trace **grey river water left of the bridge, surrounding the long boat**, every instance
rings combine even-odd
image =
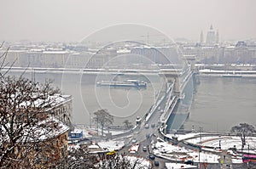
[[[19,75],[20,73],[9,73]],[[32,72],[27,71],[24,76],[32,78]],[[54,85],[61,89],[63,94],[73,96],[73,123],[94,124],[93,114],[96,110],[106,109],[114,116],[114,125],[123,126],[126,119],[135,124],[137,116],[145,115],[154,104],[155,96],[161,87],[160,76],[134,76],[113,74],[83,74],[77,71],[52,72],[41,71],[35,73],[37,82],[44,82],[45,78],[54,80]],[[137,79],[147,82],[147,87],[97,87],[96,82],[125,81]]]

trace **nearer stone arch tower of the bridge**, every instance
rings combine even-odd
[[[181,76],[180,70],[160,70],[160,76],[165,76],[168,83],[174,82],[174,93],[180,96],[180,82],[179,78]]]

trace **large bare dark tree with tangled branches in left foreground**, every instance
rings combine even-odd
[[[0,58],[0,168],[53,168],[57,149],[51,133],[61,127],[50,120],[48,110],[60,91],[49,81],[7,76],[6,56]]]

